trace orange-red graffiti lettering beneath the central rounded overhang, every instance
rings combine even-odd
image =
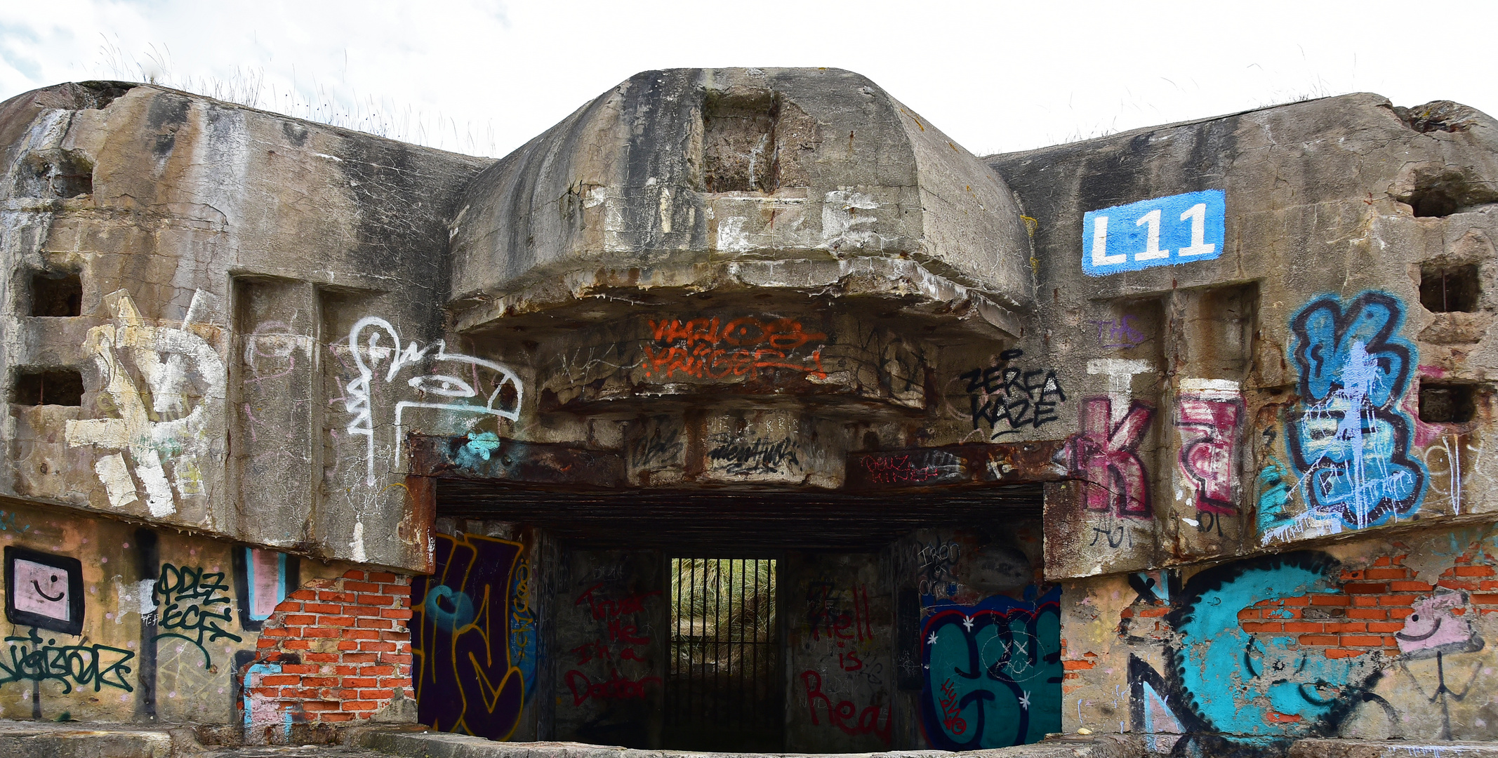
[[[795,319],[758,319],[753,316],[650,321],[652,342],[646,345],[646,376],[694,379],[746,376],[765,369],[786,369],[825,379],[822,340],[825,334],[806,331]],[[810,354],[801,354],[812,346]]]

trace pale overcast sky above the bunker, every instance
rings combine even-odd
[[[676,66],[851,69],[978,154],[1348,91],[1498,112],[1498,66],[1482,42],[1498,27],[1498,3],[0,6],[0,99],[60,81],[154,76],[491,156],[638,70]]]

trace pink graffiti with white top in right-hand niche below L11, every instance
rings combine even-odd
[[[1192,482],[1197,511],[1236,515],[1237,428],[1243,400],[1237,382],[1186,379],[1176,398],[1176,428],[1182,430],[1180,470]]]

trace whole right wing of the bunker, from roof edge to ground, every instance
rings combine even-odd
[[[1498,150],[1488,117],[1425,111],[1357,94],[992,159],[1038,219],[1022,348],[1079,419],[1046,571],[1100,575],[1064,593],[1068,730],[1489,739]],[[1152,256],[1191,210],[1128,204],[1212,190],[1185,202],[1221,249]]]

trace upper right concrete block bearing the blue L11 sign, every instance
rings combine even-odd
[[[1053,577],[1494,509],[1491,288],[1470,312],[1420,297],[1422,270],[1492,261],[1492,126],[1422,132],[1354,94],[992,159],[1040,222],[1047,297],[1020,345],[1059,369],[1091,482],[1047,502]],[[1215,258],[1080,276],[1085,211],[1198,190],[1224,193]],[[1149,220],[1113,217],[1098,253],[1135,261]],[[1431,422],[1422,392],[1452,383],[1471,419]]]

